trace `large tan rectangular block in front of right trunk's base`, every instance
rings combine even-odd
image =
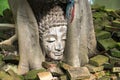
[[[87,67],[75,67],[67,70],[67,75],[70,80],[89,79],[90,72]]]

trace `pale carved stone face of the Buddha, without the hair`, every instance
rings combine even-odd
[[[65,48],[67,26],[51,27],[43,34],[42,47],[45,55],[52,60],[61,60]]]

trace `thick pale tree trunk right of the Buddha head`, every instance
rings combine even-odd
[[[65,62],[78,67],[96,53],[96,39],[88,0],[75,0],[74,7],[74,19],[68,23]]]

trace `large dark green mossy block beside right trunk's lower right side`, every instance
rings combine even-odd
[[[109,50],[115,48],[117,46],[117,43],[112,38],[109,38],[98,40],[98,46],[104,50]]]

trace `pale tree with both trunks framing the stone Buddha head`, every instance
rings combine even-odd
[[[36,5],[40,4],[40,0],[31,1],[36,1]],[[14,15],[19,43],[19,73],[42,68],[44,56],[39,45],[37,21],[30,5],[27,0],[9,0],[9,4]],[[74,19],[72,23],[68,23],[64,57],[66,63],[78,67],[88,63],[88,55],[95,54],[96,40],[88,0],[75,0],[74,7]]]

